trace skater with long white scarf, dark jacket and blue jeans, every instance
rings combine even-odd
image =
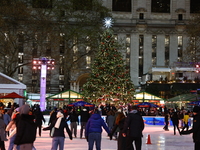
[[[68,124],[65,121],[64,115],[62,112],[57,112],[56,120],[54,120],[50,126],[43,128],[43,130],[51,130],[52,135],[52,147],[51,150],[57,150],[59,146],[59,150],[64,150],[64,141],[65,141],[65,133],[64,129],[66,129],[70,140],[72,140],[72,133],[68,127]],[[53,133],[52,133],[53,132]]]

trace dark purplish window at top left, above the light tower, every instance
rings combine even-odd
[[[32,0],[33,8],[52,8],[52,0]]]

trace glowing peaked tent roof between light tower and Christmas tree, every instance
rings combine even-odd
[[[83,95],[78,92],[67,90],[58,94],[51,95],[46,99],[82,99],[82,97]]]

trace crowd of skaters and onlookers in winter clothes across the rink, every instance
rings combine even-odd
[[[141,150],[143,130],[145,128],[142,116],[157,115],[164,116],[165,126],[163,129],[169,131],[168,125],[171,120],[176,131],[180,135],[193,133],[195,150],[200,149],[200,108],[195,106],[193,111],[184,108],[138,108],[135,105],[116,108],[107,104],[95,108],[89,107],[65,107],[54,108],[50,112],[48,126],[43,128],[46,122],[39,105],[30,107],[28,104],[18,106],[9,104],[0,113],[0,149],[5,150],[5,141],[9,142],[8,150],[36,150],[34,141],[36,135],[42,136],[42,130],[49,130],[52,138],[51,150],[64,150],[65,130],[70,140],[73,138],[86,139],[88,150],[101,150],[102,132],[107,132],[110,140],[117,140],[117,150]],[[106,116],[104,120],[102,116]],[[193,127],[190,129],[189,117],[194,117]],[[68,124],[70,124],[68,126]],[[77,126],[80,125],[80,135],[77,135]],[[38,133],[37,133],[38,131]],[[135,147],[135,148],[134,148]]]

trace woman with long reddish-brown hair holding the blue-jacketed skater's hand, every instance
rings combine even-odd
[[[127,142],[126,142],[127,138],[123,137],[123,135],[122,135],[125,118],[126,118],[126,116],[124,115],[123,112],[119,112],[117,114],[114,127],[110,134],[110,140],[112,140],[113,134],[115,133],[117,128],[119,128],[120,131],[119,131],[119,136],[117,138],[117,150],[126,150],[126,147],[127,147]],[[132,148],[132,150],[133,150],[133,148]]]

